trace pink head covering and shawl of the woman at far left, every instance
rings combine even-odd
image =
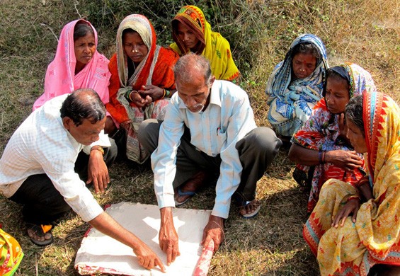
[[[91,61],[78,74],[75,74],[76,57],[74,50],[74,28],[76,23],[86,23],[94,33],[96,51]],[[33,110],[40,108],[47,100],[79,88],[92,88],[103,103],[108,103],[108,84],[110,72],[108,59],[97,52],[96,29],[84,19],[72,21],[62,28],[59,35],[55,59],[49,64],[45,76],[45,93],[33,104]]]

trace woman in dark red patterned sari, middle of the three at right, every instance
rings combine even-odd
[[[343,113],[348,100],[365,91],[375,91],[375,84],[370,73],[358,65],[328,69],[324,98],[316,103],[312,116],[292,137],[289,158],[297,163],[293,178],[299,185],[311,188],[307,212],[314,209],[326,180],[357,183],[363,176],[364,161],[345,137]]]

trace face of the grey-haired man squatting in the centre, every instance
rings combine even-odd
[[[212,77],[210,86],[205,84],[204,76],[195,75],[192,81],[181,81],[176,79],[176,88],[178,89],[178,96],[183,100],[186,107],[192,113],[199,113],[205,109],[207,98],[210,95],[210,90],[215,77]]]

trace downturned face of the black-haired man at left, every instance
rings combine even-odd
[[[76,142],[88,146],[99,139],[98,134],[104,129],[106,117],[103,120],[92,124],[90,120],[84,119],[82,124],[77,126],[69,117],[62,118],[66,130],[74,137]]]

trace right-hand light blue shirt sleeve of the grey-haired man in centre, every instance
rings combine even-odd
[[[229,117],[227,130],[221,130],[218,135],[226,135],[226,142],[221,149],[221,166],[216,186],[215,205],[212,215],[227,219],[231,205],[231,197],[238,188],[241,180],[242,166],[236,143],[242,139],[253,126],[253,110],[247,97],[236,100],[232,110],[234,113]]]

